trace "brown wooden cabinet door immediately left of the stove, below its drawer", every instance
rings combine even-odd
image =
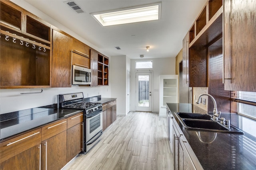
[[[83,124],[79,123],[67,130],[67,162],[82,151]]]

